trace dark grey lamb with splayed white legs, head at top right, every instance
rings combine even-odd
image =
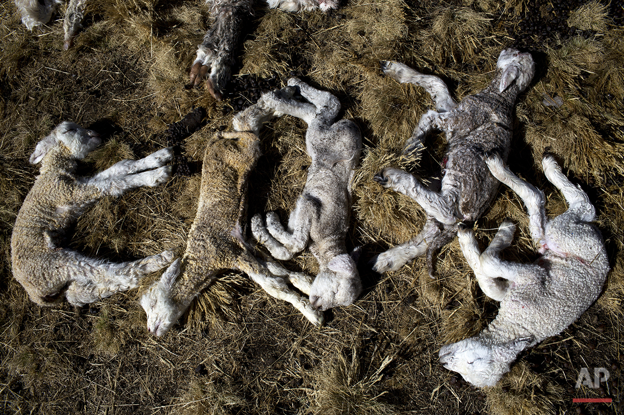
[[[507,160],[514,103],[533,78],[535,65],[528,53],[502,50],[490,85],[464,98],[459,105],[439,77],[423,75],[388,60],[381,62],[381,68],[384,74],[401,83],[421,85],[436,105],[436,110],[422,115],[403,153],[419,155],[424,149],[422,141],[435,129],[446,133],[448,147],[442,162],[444,176],[439,193],[425,188],[412,174],[400,169],[384,168],[374,176],[384,188],[405,194],[420,204],[427,221],[416,237],[375,257],[373,268],[377,272],[394,271],[426,254],[427,270],[433,278],[432,256],[455,237],[456,222],[476,221],[495,196],[499,182],[487,170],[485,155],[497,151]]]

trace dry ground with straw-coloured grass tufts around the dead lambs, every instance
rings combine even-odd
[[[621,1],[347,0],[337,11],[288,14],[263,3],[246,28],[229,92],[215,102],[190,88],[188,70],[210,25],[200,0],[93,0],[74,48],[62,50],[62,17],[32,32],[0,2],[0,413],[4,414],[616,414],[623,413],[624,30]],[[61,6],[61,14],[64,6]],[[439,176],[444,137],[426,154],[399,153],[431,107],[422,88],[381,75],[380,59],[442,77],[461,99],[483,88],[504,47],[529,50],[534,81],[517,103],[510,168],[566,208],[542,174],[545,148],[598,212],[610,266],[605,290],[558,336],[525,351],[492,388],[477,389],[437,361],[439,348],[473,335],[497,313],[475,283],[457,240],[436,257],[375,274],[373,255],[421,229],[422,210],[372,179],[384,166]],[[38,166],[37,140],[62,120],[100,131],[105,143],[82,174],[168,145],[163,133],[193,107],[205,125],[178,151],[177,176],[157,188],[107,198],[76,225],[71,246],[127,260],[182,250],[195,215],[198,161],[233,113],[291,75],[334,93],[363,131],[348,246],[363,246],[361,298],[314,328],[245,275],[222,275],[170,333],[145,328],[139,289],[74,308],[41,308],[12,278],[10,238]],[[556,103],[557,105],[549,105]],[[261,133],[250,215],[288,217],[306,179],[305,123],[283,117]],[[507,259],[535,249],[524,206],[501,188],[475,226],[485,246],[505,217],[519,224]],[[284,263],[314,274],[307,251]],[[582,368],[607,368],[600,389],[575,389]],[[612,398],[574,404],[573,398]]]

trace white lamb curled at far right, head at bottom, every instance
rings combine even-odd
[[[475,386],[493,386],[525,348],[557,335],[577,320],[598,298],[609,270],[605,244],[591,222],[595,210],[587,194],[562,174],[550,155],[542,160],[544,174],[568,202],[568,210],[547,220],[544,193],[515,176],[498,156],[487,166],[517,193],[529,213],[531,236],[542,256],[533,264],[499,259],[509,246],[515,226],[504,221],[481,254],[470,229],[460,227],[459,243],[479,286],[500,301],[499,314],[479,335],[446,345],[439,357]]]

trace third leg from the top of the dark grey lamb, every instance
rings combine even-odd
[[[436,218],[438,222],[452,225],[457,221],[454,194],[451,192],[441,194],[426,189],[412,174],[401,169],[385,168],[375,174],[373,180],[384,188],[391,188],[414,199],[428,216]]]

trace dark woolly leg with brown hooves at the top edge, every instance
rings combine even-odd
[[[199,85],[208,75],[206,88],[218,101],[223,97],[225,85],[230,80],[236,59],[235,51],[238,49],[238,36],[243,23],[253,14],[252,5],[252,0],[214,0],[210,6],[210,15],[214,21],[202,44],[198,46],[189,80]]]

